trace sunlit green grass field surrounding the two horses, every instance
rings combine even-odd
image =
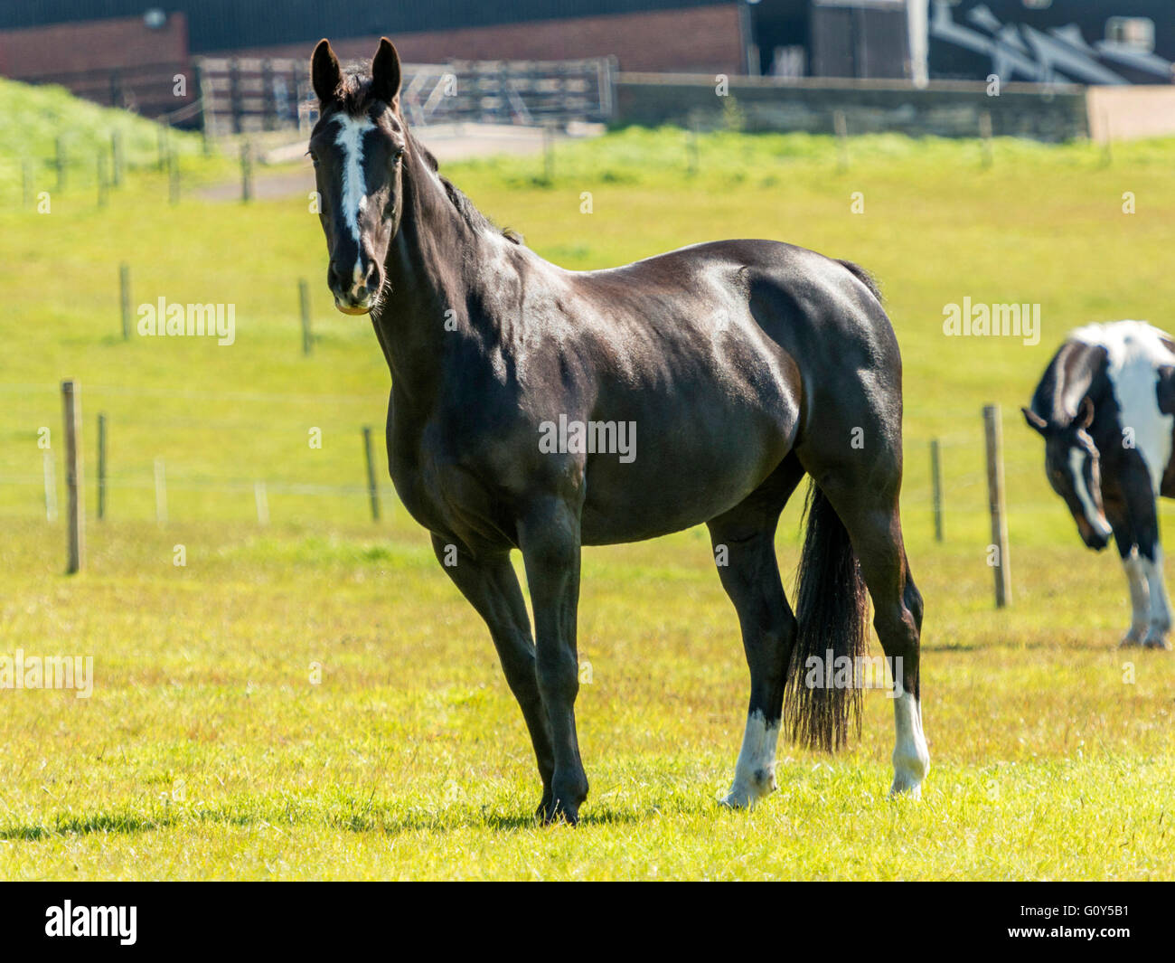
[[[52,143],[41,136],[36,156]],[[306,196],[201,201],[192,188],[230,167],[196,141],[177,206],[145,159],[106,208],[79,181],[38,214],[0,136],[0,656],[90,655],[95,676],[89,698],[0,691],[0,878],[1175,876],[1175,660],[1114,648],[1128,621],[1120,567],[1080,546],[1018,412],[1070,327],[1175,325],[1175,142],[1116,145],[1107,162],[1088,145],[996,141],[985,168],[974,142],[871,136],[839,169],[830,139],[714,133],[692,175],[684,145],[677,131],[622,131],[562,146],[550,182],[542,159],[446,173],[568,267],[764,236],[879,277],[905,356],[904,515],[926,598],[922,801],[886,797],[891,707],[871,693],[857,748],[781,747],[773,797],[717,807],[747,683],[698,529],[585,551],[592,790],[578,828],[538,828],[529,742],[484,627],[385,480],[384,519],[367,514],[360,429],[376,426],[382,463],[388,374],[368,322],[330,308]],[[235,305],[235,343],[125,342],[122,261],[135,305]],[[1040,303],[1040,343],[944,336],[944,306],[965,296]],[[63,508],[63,377],[80,381],[85,415],[89,557],[74,577],[63,526],[45,517],[39,447],[47,427]],[[1010,510],[1014,604],[1000,613],[985,561],[988,402],[1003,408]],[[787,573],[797,521],[792,506]]]

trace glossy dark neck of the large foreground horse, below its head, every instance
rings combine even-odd
[[[484,283],[479,266],[494,252],[415,153],[404,172],[403,205],[384,262],[388,293],[376,333],[394,388],[428,409],[439,387],[446,339],[468,326],[466,306],[481,300]]]

